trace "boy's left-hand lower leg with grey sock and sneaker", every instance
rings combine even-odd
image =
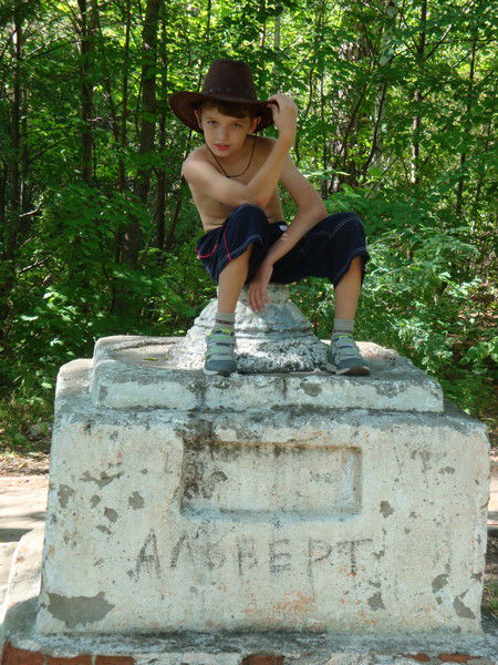
[[[228,376],[237,370],[234,357],[235,310],[247,278],[252,247],[250,244],[243,254],[230,260],[219,274],[215,325],[206,338],[206,374]]]

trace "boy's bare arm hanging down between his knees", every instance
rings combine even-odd
[[[270,301],[267,286],[273,272],[273,265],[292,249],[310,228],[328,215],[320,194],[300,173],[290,157],[286,161],[280,181],[298,206],[298,213],[280,238],[270,247],[249,285],[248,301],[255,311],[263,309],[264,305]]]

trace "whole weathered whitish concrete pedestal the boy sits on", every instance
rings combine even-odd
[[[370,377],[323,371],[287,287],[270,298],[239,303],[230,377],[200,370],[215,303],[185,339],[105,337],[61,368],[41,585],[8,603],[12,648],[238,665],[270,631],[286,663],[332,663],[330,640],[488,653],[484,424],[374,344]]]

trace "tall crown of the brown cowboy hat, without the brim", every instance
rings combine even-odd
[[[203,93],[258,101],[251,70],[247,62],[238,60],[214,60],[206,74]]]

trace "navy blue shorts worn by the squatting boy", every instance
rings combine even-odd
[[[246,279],[248,284],[268,249],[286,228],[284,222],[269,224],[264,211],[257,205],[240,205],[220,227],[212,228],[198,238],[197,258],[218,284],[219,274],[228,262],[243,254],[253,243]],[[303,277],[328,277],[335,286],[356,256],[363,259],[363,283],[370,255],[362,221],[355,213],[334,213],[313,226],[292,249],[276,262],[270,282],[290,284]]]

